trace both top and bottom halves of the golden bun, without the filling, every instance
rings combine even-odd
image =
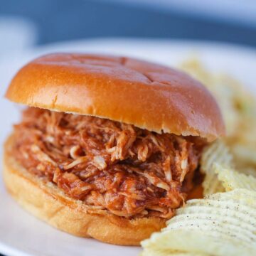
[[[6,97],[29,107],[104,117],[208,142],[225,132],[218,105],[200,82],[178,70],[132,58],[45,55],[18,71]],[[116,245],[139,245],[165,226],[164,218],[122,218],[65,196],[54,183],[16,161],[14,143],[11,136],[4,146],[6,188],[23,208],[55,228]],[[200,192],[198,188],[191,195]]]

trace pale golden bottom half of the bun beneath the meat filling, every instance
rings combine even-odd
[[[11,196],[28,212],[59,230],[114,245],[139,245],[164,228],[162,218],[127,220],[65,196],[53,183],[29,173],[11,154],[12,137],[4,146],[4,183]]]

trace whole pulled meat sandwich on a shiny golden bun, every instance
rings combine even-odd
[[[118,245],[164,227],[198,184],[203,147],[224,133],[203,85],[132,58],[45,55],[6,97],[28,106],[5,144],[11,195],[60,230]]]

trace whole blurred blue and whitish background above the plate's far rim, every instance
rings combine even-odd
[[[0,0],[0,57],[60,41],[132,37],[256,46],[255,0]]]

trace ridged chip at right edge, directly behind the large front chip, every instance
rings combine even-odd
[[[256,191],[256,178],[251,175],[242,174],[234,169],[225,168],[220,164],[214,164],[215,174],[222,183],[225,191],[231,191],[235,188],[247,188]]]

